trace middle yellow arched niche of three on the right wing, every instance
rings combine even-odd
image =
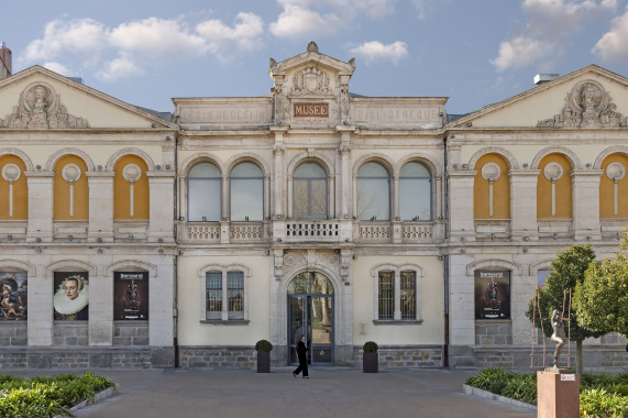
[[[555,215],[552,216],[552,183],[543,174],[549,163],[555,162],[563,168],[562,177],[555,182]],[[571,164],[562,154],[546,155],[539,164],[537,182],[537,218],[565,219],[572,217],[572,177]]]

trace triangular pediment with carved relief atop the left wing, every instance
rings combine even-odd
[[[41,66],[0,80],[0,130],[148,128],[176,125]]]

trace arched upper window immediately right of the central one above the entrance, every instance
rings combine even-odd
[[[390,219],[390,177],[379,163],[366,163],[357,170],[357,219]]]

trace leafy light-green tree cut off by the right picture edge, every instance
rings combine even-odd
[[[615,258],[592,263],[575,289],[577,323],[598,332],[628,338],[628,232]]]

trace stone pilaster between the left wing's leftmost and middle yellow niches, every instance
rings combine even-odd
[[[27,242],[53,241],[54,172],[26,172],[29,183]]]

